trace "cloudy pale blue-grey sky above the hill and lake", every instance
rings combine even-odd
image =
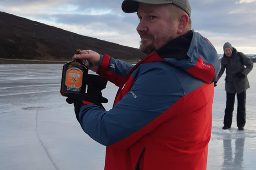
[[[139,48],[135,13],[122,0],[1,0],[0,11],[80,35]],[[256,0],[190,0],[192,29],[223,54],[227,41],[244,54],[256,54]]]

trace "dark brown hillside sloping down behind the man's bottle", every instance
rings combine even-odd
[[[75,49],[92,49],[127,62],[138,62],[139,49],[78,35],[60,28],[0,12],[0,64],[71,60]],[[54,62],[48,62],[54,63]]]

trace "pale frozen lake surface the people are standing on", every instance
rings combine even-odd
[[[0,65],[0,73],[1,170],[103,170],[105,146],[83,132],[73,105],[60,95],[62,65]],[[256,169],[256,69],[248,76],[244,131],[236,127],[236,105],[232,128],[222,130],[224,77],[214,92],[207,169]],[[108,83],[102,91],[106,110],[117,89]]]

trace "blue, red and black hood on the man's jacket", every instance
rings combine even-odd
[[[208,84],[215,81],[221,68],[213,45],[193,30],[170,41],[156,53],[170,64]]]

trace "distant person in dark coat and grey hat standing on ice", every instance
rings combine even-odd
[[[250,87],[247,74],[252,70],[253,63],[249,57],[241,52],[237,52],[236,48],[232,47],[229,43],[224,44],[223,50],[221,70],[214,82],[215,86],[217,86],[217,81],[226,69],[225,90],[227,92],[227,101],[222,129],[231,128],[235,95],[237,95],[236,122],[238,130],[244,130],[246,89]]]

